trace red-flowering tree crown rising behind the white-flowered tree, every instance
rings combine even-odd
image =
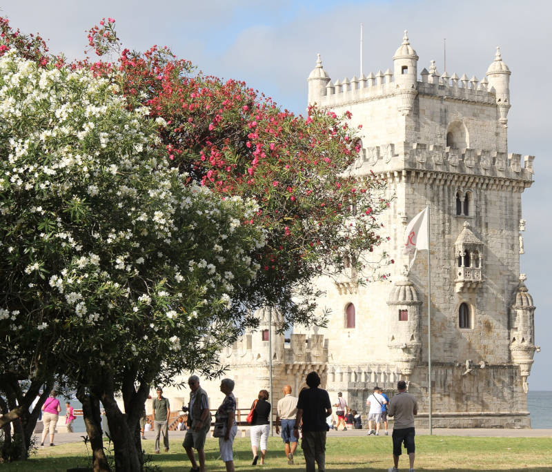
[[[128,106],[147,106],[162,117],[166,157],[201,185],[220,195],[257,201],[251,219],[266,230],[267,244],[255,255],[262,267],[248,296],[279,310],[284,326],[322,324],[313,317],[317,275],[342,273],[352,266],[371,277],[382,262],[373,248],[382,242],[377,216],[388,207],[385,184],[353,177],[359,152],[350,113],[309,108],[297,117],[242,81],[226,82],[195,74],[188,61],[168,48],[122,49],[115,20],[101,21],[88,35],[97,55],[119,52],[119,63],[83,61],[113,77]],[[112,74],[117,70],[117,74]]]

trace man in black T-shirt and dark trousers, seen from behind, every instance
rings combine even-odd
[[[326,432],[328,424],[326,417],[332,414],[330,395],[324,389],[319,389],[320,377],[316,372],[306,376],[308,389],[299,393],[297,401],[297,416],[293,435],[299,437],[299,425],[303,421],[303,438],[301,447],[305,455],[306,472],[315,472],[315,462],[319,472],[326,470]]]

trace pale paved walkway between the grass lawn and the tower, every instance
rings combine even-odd
[[[389,430],[389,435],[393,430]],[[169,437],[171,439],[181,438],[184,440],[186,431],[169,431]],[[347,431],[328,431],[328,437],[340,437],[340,436],[366,436],[368,434],[367,429],[348,429]],[[382,433],[384,434],[384,433]],[[428,429],[416,429],[416,435],[428,435]],[[249,426],[245,426],[238,429],[238,437],[244,437],[249,435]],[[276,433],[275,433],[276,435]],[[445,429],[434,428],[433,435],[435,436],[495,436],[495,437],[552,437],[552,429],[500,429],[500,428],[472,428],[472,429]],[[83,440],[83,436],[86,433],[56,433],[54,437],[55,444],[67,444],[68,442],[79,442]],[[154,439],[154,433],[146,433],[146,440],[150,441]],[[37,439],[40,441],[41,437],[37,434]],[[48,447],[48,441],[50,437],[46,439],[46,447]]]

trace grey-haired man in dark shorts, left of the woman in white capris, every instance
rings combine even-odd
[[[182,446],[186,449],[193,471],[205,472],[205,438],[211,427],[209,399],[207,392],[199,386],[199,377],[192,375],[188,379],[190,386],[190,403],[188,404],[188,431]],[[199,467],[195,462],[194,448],[197,449]]]

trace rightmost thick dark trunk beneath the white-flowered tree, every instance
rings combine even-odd
[[[143,469],[141,464],[141,449],[137,449],[134,433],[126,422],[126,415],[121,413],[115,394],[112,390],[111,382],[103,382],[103,393],[101,394],[101,403],[106,409],[108,417],[109,431],[115,449],[115,469],[117,472],[138,472]]]

